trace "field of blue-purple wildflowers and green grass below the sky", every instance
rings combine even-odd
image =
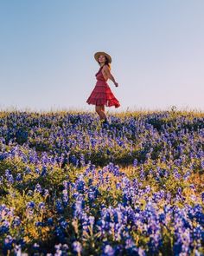
[[[204,113],[0,112],[0,255],[204,255]]]

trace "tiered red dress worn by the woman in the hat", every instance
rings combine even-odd
[[[102,73],[102,68],[103,67],[101,67],[99,69],[99,72],[96,74],[96,85],[86,102],[88,104],[93,104],[96,106],[105,105],[106,107],[115,106],[115,108],[118,108],[120,106],[120,103],[113,95],[112,90],[105,81],[104,75]]]

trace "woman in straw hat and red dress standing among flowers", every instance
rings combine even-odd
[[[86,102],[88,104],[95,105],[95,110],[99,115],[101,123],[108,124],[107,117],[105,115],[105,106],[115,106],[115,108],[118,108],[120,103],[113,95],[112,90],[107,84],[107,80],[111,79],[116,87],[118,87],[118,82],[115,81],[110,72],[112,57],[103,51],[98,51],[95,53],[94,58],[99,63],[100,69],[96,74],[97,82],[95,88],[92,90],[92,93]]]

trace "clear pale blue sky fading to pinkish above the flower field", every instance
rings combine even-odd
[[[112,56],[129,109],[204,109],[203,0],[0,0],[0,108],[83,108]]]

